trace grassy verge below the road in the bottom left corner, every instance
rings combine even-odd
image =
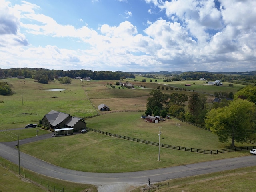
[[[19,176],[18,165],[0,158],[0,191],[18,192],[48,192],[63,190],[68,192],[97,192],[96,186],[73,183],[55,178],[50,178],[35,172],[21,169]],[[49,190],[48,190],[49,189]]]

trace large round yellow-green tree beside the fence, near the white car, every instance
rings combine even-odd
[[[255,132],[255,122],[255,104],[237,99],[228,106],[208,112],[205,125],[218,135],[220,142],[231,139],[231,147],[235,147],[235,141],[243,143]]]

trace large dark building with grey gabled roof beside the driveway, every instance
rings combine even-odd
[[[74,128],[74,131],[79,131],[86,129],[86,122],[84,119],[78,117],[72,117],[70,114],[50,111],[48,114],[44,115],[42,119],[43,126],[49,127],[52,129],[59,128]]]

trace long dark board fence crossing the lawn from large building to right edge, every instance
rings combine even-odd
[[[104,135],[108,135],[108,136],[112,136],[112,137],[116,137],[116,138],[121,138],[121,139],[140,142],[140,143],[144,143],[144,144],[159,146],[158,142],[152,142],[152,141],[148,141],[148,140],[142,140],[142,139],[127,137],[127,136],[122,136],[122,135],[113,134],[113,133],[109,133],[109,132],[105,132],[105,131],[93,129],[93,128],[87,128],[87,129],[88,129],[88,131],[94,131],[94,132],[97,132],[100,134],[104,134]],[[174,145],[168,145],[168,144],[162,144],[162,143],[160,143],[160,147],[170,148],[170,149],[175,149],[175,150],[182,150],[182,151],[189,151],[189,152],[196,152],[196,153],[203,153],[203,154],[210,154],[210,155],[226,153],[226,152],[234,152],[234,151],[251,150],[251,149],[256,148],[256,146],[248,146],[248,147],[235,147],[235,148],[217,149],[217,150],[204,150],[204,149],[174,146]]]

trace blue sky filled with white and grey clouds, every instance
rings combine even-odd
[[[0,0],[0,68],[256,70],[256,0]]]

